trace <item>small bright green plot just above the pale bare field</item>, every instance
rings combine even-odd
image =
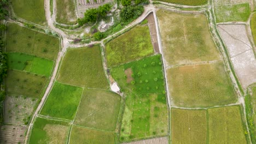
[[[248,3],[221,5],[215,7],[216,22],[231,22],[248,20],[250,7]]]

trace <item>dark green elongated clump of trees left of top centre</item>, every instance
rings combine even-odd
[[[111,9],[110,4],[104,4],[96,9],[88,9],[84,13],[84,17],[82,19],[78,19],[78,24],[83,26],[85,23],[88,22],[96,22],[97,19],[101,19],[107,15],[109,10]]]

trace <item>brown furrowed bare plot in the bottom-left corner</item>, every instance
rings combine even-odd
[[[23,143],[26,127],[17,125],[1,125],[0,126],[0,143],[13,144]]]

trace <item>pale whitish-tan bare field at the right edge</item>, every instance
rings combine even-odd
[[[256,82],[256,59],[245,25],[218,25],[232,65],[243,88]]]

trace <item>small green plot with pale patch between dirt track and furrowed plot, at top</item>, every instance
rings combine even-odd
[[[75,2],[72,0],[56,0],[56,22],[73,25],[77,22]]]

